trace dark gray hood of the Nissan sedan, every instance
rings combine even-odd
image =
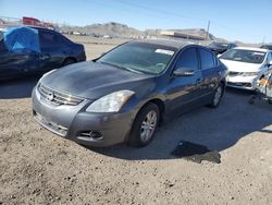
[[[51,89],[88,99],[98,99],[112,92],[134,91],[154,76],[86,61],[49,73],[40,83]]]

